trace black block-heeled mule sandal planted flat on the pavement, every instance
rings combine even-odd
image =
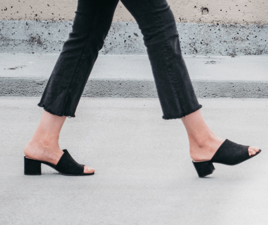
[[[41,175],[41,163],[46,164],[59,173],[68,176],[88,176],[93,173],[84,173],[84,165],[77,163],[69,152],[64,149],[64,153],[58,161],[57,165],[40,160],[34,160],[24,156],[24,174],[25,175]]]

